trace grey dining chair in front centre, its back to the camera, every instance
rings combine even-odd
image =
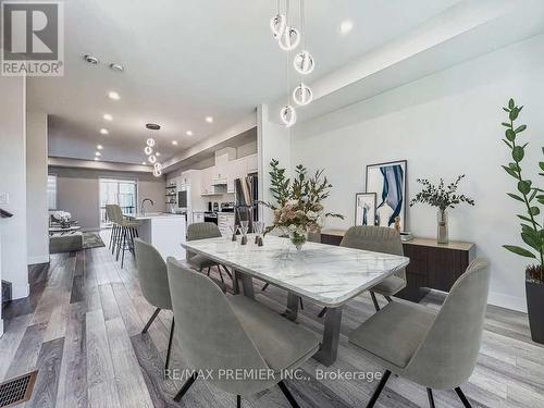
[[[182,327],[174,339],[194,370],[174,400],[183,398],[197,372],[206,372],[211,373],[207,382],[236,395],[238,407],[242,396],[275,384],[298,407],[281,373],[299,368],[313,356],[319,349],[317,334],[246,296],[227,297],[207,276],[174,258],[166,263],[174,316]],[[239,370],[249,370],[243,372],[251,375],[238,378]]]

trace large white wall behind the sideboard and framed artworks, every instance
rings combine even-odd
[[[526,310],[526,260],[502,248],[521,244],[516,213],[522,208],[506,196],[516,186],[500,168],[509,161],[500,122],[509,97],[526,106],[521,120],[529,125],[523,137],[530,149],[523,168],[536,181],[544,145],[543,49],[541,35],[299,124],[292,164],[324,168],[334,185],[326,209],[346,215],[327,226],[353,225],[367,164],[407,159],[410,198],[420,188],[418,177],[465,173],[460,190],[477,206],[450,212],[450,239],[475,243],[491,260],[491,304]],[[409,208],[407,225],[417,236],[434,237],[434,209]]]

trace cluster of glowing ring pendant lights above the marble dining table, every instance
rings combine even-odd
[[[277,41],[280,48],[284,51],[290,52],[301,44],[301,50],[293,59],[293,66],[295,71],[302,75],[308,75],[313,72],[316,63],[310,51],[306,49],[306,33],[305,33],[305,5],[304,0],[300,2],[300,32],[289,25],[289,0],[285,0],[285,14],[281,12],[280,1],[277,0],[276,15],[270,20],[270,29]],[[287,88],[289,87],[289,63],[287,62]],[[290,94],[293,101],[304,107],[310,103],[313,99],[311,88],[306,85],[301,78],[299,85],[290,92],[287,89],[287,95]],[[280,110],[280,119],[286,127],[293,126],[297,121],[297,112],[295,107],[290,104],[290,100]]]

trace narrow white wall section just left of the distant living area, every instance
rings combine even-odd
[[[49,262],[46,113],[26,113],[26,231],[32,264]]]

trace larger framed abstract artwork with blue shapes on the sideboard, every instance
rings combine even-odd
[[[376,225],[405,230],[406,168],[406,160],[367,165],[367,193],[376,194]]]

